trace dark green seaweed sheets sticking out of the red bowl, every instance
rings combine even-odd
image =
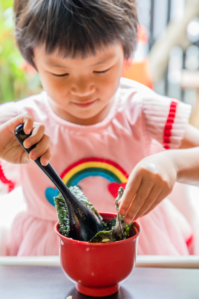
[[[69,187],[70,191],[87,207],[89,207],[100,219],[103,224],[104,230],[96,234],[89,242],[101,243],[101,242],[114,242],[124,240],[128,238],[133,223],[127,224],[124,222],[124,216],[119,215],[118,201],[121,198],[124,189],[119,188],[118,197],[115,200],[115,206],[117,211],[117,217],[113,218],[109,222],[105,223],[102,216],[96,211],[94,206],[88,201],[82,190],[78,186]],[[68,211],[63,197],[59,194],[54,197],[55,207],[58,215],[60,233],[65,237],[69,237],[69,218]]]

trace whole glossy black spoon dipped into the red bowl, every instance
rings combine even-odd
[[[31,135],[31,133],[29,135],[25,134],[23,127],[23,124],[16,127],[14,134],[21,146],[29,154],[36,147],[36,144],[29,149],[23,146],[24,140]],[[37,158],[35,162],[53,182],[65,200],[69,215],[70,238],[88,242],[100,230],[103,230],[103,225],[97,215],[70,192],[50,163],[47,166],[43,166],[41,165],[40,158]]]

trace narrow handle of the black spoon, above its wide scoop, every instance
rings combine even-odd
[[[18,139],[19,143],[23,147],[23,149],[29,154],[32,149],[36,147],[36,144],[32,145],[29,149],[26,149],[23,145],[23,142],[26,138],[28,138],[29,135],[24,133],[23,130],[24,125],[19,125],[15,128],[14,134],[16,138]],[[57,172],[54,170],[54,168],[51,166],[50,163],[48,163],[47,166],[43,166],[40,162],[40,157],[37,158],[34,162],[41,168],[41,170],[47,175],[47,177],[54,183],[55,187],[59,190],[61,194],[65,193],[68,196],[68,200],[70,201],[70,197],[74,197],[74,195],[70,192],[68,187],[64,184],[62,179],[58,176]]]

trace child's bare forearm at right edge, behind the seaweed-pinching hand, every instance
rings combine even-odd
[[[199,147],[171,149],[164,154],[172,161],[177,182],[199,186]]]

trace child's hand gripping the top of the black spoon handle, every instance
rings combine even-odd
[[[15,127],[24,123],[24,132],[32,135],[24,140],[24,147],[30,148],[33,144],[36,147],[28,155],[14,135]],[[16,164],[24,164],[30,160],[36,160],[41,156],[41,164],[46,166],[52,158],[49,146],[50,138],[44,133],[45,126],[41,123],[33,122],[29,113],[24,113],[0,126],[0,158]]]

